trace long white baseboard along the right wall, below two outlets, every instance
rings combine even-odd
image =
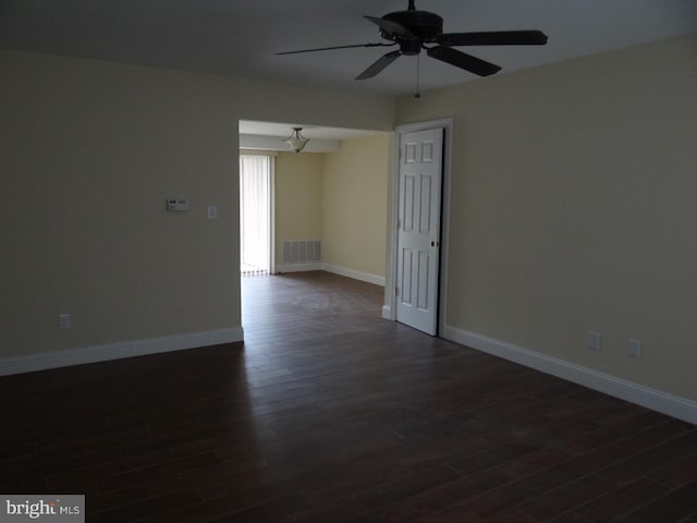
[[[606,394],[697,424],[697,402],[651,389],[504,341],[445,326],[441,336],[456,343],[583,385]]]

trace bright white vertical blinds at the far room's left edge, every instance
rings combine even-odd
[[[240,272],[269,275],[273,268],[273,158],[240,155]]]

